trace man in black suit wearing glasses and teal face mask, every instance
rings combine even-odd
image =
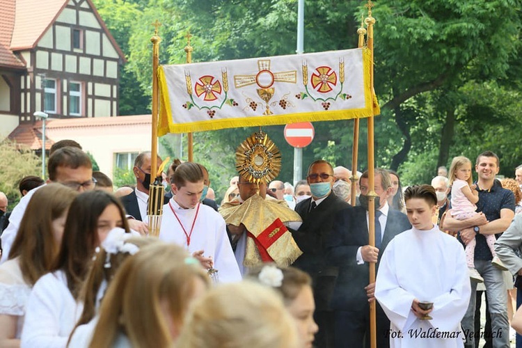
[[[293,266],[306,271],[313,279],[315,297],[314,319],[319,326],[315,347],[333,347],[333,311],[329,307],[337,268],[326,264],[326,239],[335,215],[350,205],[332,192],[333,168],[324,160],[314,161],[308,168],[307,182],[312,197],[296,205],[303,219],[298,230],[292,230],[297,245],[303,251]]]

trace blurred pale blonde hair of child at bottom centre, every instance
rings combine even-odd
[[[249,281],[220,285],[198,299],[178,348],[296,348],[294,319],[274,290]]]

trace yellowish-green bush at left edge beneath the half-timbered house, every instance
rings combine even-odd
[[[0,191],[6,193],[9,209],[12,209],[20,199],[20,180],[28,175],[40,175],[42,161],[28,148],[19,148],[8,140],[0,143],[0,158]]]

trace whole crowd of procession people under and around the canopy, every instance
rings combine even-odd
[[[12,211],[0,193],[0,347],[362,348],[371,303],[379,348],[522,332],[522,167],[497,180],[493,152],[410,187],[319,159],[295,185],[232,176],[219,204],[207,169],[175,160],[157,235],[150,152],[116,190],[76,141],[50,152]]]

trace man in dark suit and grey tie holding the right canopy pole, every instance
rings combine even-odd
[[[388,171],[375,170],[375,246],[368,245],[368,173],[360,180],[361,206],[342,210],[328,241],[329,262],[339,267],[331,307],[335,310],[335,348],[370,347],[370,306],[375,301],[375,283],[370,279],[369,262],[379,261],[391,239],[411,225],[405,214],[390,209],[391,180]],[[386,335],[390,321],[377,303],[377,347],[389,347]],[[365,343],[366,342],[366,343]]]

